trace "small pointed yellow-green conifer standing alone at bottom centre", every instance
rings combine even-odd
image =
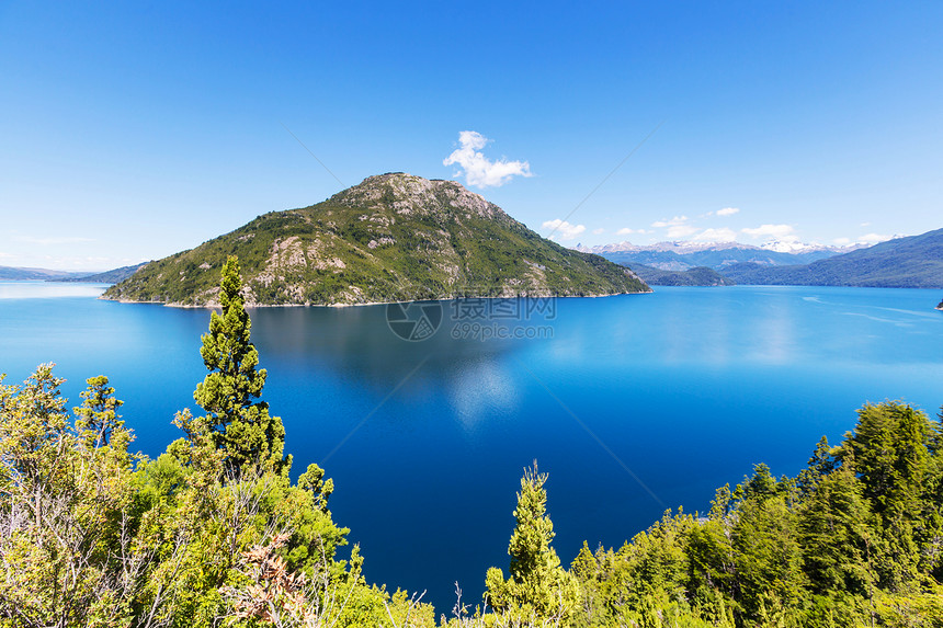
[[[561,567],[550,547],[554,524],[547,516],[546,473],[537,472],[537,461],[524,469],[514,517],[518,525],[511,535],[509,580],[498,568],[488,570],[485,584],[491,606],[524,619],[546,619],[569,613],[576,604],[572,576]]]

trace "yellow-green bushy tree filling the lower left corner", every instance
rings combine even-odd
[[[0,625],[128,626],[149,560],[128,540],[132,434],[106,378],[88,380],[75,423],[63,381],[52,364],[0,379]]]

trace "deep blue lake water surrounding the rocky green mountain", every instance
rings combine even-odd
[[[174,411],[194,408],[208,312],[101,301],[101,290],[0,283],[0,372],[16,382],[56,362],[73,404],[84,378],[107,375],[136,447],[155,456],[180,435]],[[361,544],[368,580],[428,590],[448,613],[455,581],[474,603],[488,567],[507,571],[515,491],[535,458],[568,563],[584,539],[618,546],[667,507],[705,510],[757,463],[796,473],[866,401],[935,413],[940,297],[741,286],[532,312],[444,304],[421,342],[394,334],[385,306],[251,316],[295,473],[318,463],[334,479],[334,521]]]

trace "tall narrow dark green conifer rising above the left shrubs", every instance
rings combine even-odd
[[[230,469],[245,465],[273,465],[287,469],[282,459],[285,427],[269,414],[269,404],[254,401],[262,395],[265,369],[258,368],[259,352],[250,342],[252,321],[241,295],[239,261],[230,255],[223,266],[219,302],[223,313],[209,317],[200,355],[209,373],[196,385],[193,398],[208,413],[207,426]]]

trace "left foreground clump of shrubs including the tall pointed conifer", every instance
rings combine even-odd
[[[356,546],[328,510],[316,465],[288,480],[284,430],[226,266],[224,313],[201,354],[211,373],[179,412],[186,434],[157,459],[130,454],[106,377],[72,419],[42,365],[0,379],[0,626],[431,625],[432,609],[367,585]]]

